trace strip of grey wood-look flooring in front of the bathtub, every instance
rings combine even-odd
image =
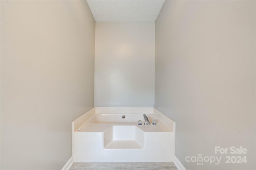
[[[173,162],[74,163],[69,170],[178,170]]]

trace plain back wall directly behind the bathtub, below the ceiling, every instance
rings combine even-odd
[[[154,107],[154,22],[96,22],[95,107]]]

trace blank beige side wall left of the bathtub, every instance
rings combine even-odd
[[[1,169],[61,169],[94,107],[86,1],[1,1]]]

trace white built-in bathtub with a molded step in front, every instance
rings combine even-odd
[[[143,124],[143,114],[150,125]],[[72,122],[72,158],[74,162],[172,162],[174,127],[155,108],[94,107]]]

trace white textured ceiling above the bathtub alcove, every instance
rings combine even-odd
[[[164,0],[87,0],[95,21],[154,22]]]

